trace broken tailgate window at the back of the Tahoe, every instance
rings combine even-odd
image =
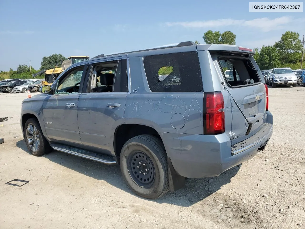
[[[236,87],[260,82],[257,70],[249,59],[221,57],[219,63],[229,86]]]

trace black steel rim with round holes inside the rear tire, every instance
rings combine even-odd
[[[129,173],[132,180],[141,187],[149,187],[155,178],[155,168],[151,159],[143,152],[135,152],[130,156]]]

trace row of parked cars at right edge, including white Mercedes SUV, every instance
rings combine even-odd
[[[279,85],[303,85],[305,87],[305,69],[293,70],[290,67],[279,67],[261,71],[267,85],[277,87]]]

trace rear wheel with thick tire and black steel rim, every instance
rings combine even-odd
[[[167,155],[155,136],[129,139],[121,150],[120,167],[128,187],[139,196],[156,199],[169,190]]]

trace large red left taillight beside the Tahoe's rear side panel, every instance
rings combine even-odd
[[[203,134],[224,133],[224,97],[221,92],[204,92]]]

